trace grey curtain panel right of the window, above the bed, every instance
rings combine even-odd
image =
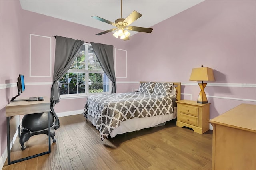
[[[108,76],[110,81],[112,81],[111,93],[116,93],[116,75],[114,69],[113,45],[106,45],[93,42],[91,42],[91,45],[104,73]]]

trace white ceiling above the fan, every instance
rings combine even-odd
[[[126,18],[136,10],[142,17],[131,26],[150,28],[202,1],[204,0],[123,0],[122,16]],[[100,30],[109,30],[114,26],[91,16],[96,15],[112,22],[121,18],[121,0],[20,0],[20,4],[24,10]],[[135,33],[137,32],[131,32],[131,35]]]

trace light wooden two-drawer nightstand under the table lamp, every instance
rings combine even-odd
[[[179,100],[177,102],[178,127],[189,127],[196,133],[203,134],[209,130],[210,103],[201,104],[191,100]]]

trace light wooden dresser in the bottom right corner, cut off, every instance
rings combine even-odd
[[[212,170],[256,170],[256,105],[238,105],[209,122]]]

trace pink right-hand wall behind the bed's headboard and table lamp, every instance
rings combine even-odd
[[[182,98],[196,101],[200,88],[189,77],[192,68],[204,65],[216,79],[205,82],[210,118],[240,103],[256,104],[255,6],[256,1],[207,0],[156,24],[151,34],[132,36],[127,79],[181,81]]]

